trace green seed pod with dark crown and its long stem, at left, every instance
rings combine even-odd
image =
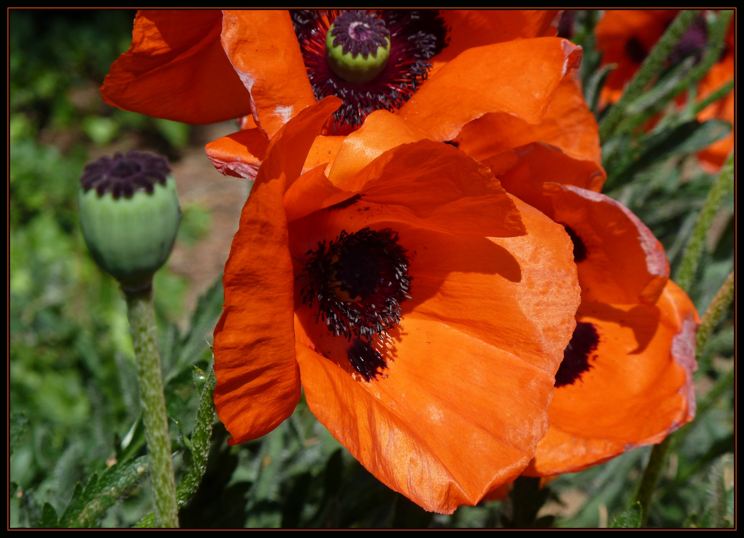
[[[176,181],[165,158],[132,150],[89,163],[80,184],[83,237],[95,262],[118,280],[126,296],[155,519],[160,527],[178,527],[176,480],[153,310],[153,274],[170,256],[181,220]]]

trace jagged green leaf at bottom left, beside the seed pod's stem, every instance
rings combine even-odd
[[[90,477],[85,489],[75,485],[70,503],[60,516],[60,525],[66,528],[89,528],[121,496],[137,484],[147,473],[147,456],[125,464],[118,464]]]

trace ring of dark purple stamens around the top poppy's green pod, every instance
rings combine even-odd
[[[362,125],[367,114],[375,110],[396,111],[403,106],[428,77],[432,57],[446,46],[446,27],[437,10],[368,13],[367,17],[380,21],[374,24],[389,33],[388,63],[369,82],[347,82],[333,72],[326,58],[327,32],[344,14],[339,10],[292,10],[291,13],[315,97],[321,100],[336,95],[344,101],[334,116],[339,129]],[[355,28],[362,31],[359,25]]]

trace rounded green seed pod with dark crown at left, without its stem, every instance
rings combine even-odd
[[[170,256],[181,221],[167,161],[118,152],[88,163],[80,185],[80,227],[93,259],[124,291],[148,288]]]

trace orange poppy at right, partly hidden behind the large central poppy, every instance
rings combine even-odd
[[[669,280],[664,249],[650,230],[597,192],[596,164],[554,146],[531,143],[484,163],[507,192],[565,226],[581,286],[551,426],[525,474],[582,470],[658,443],[691,421],[699,318]]]

